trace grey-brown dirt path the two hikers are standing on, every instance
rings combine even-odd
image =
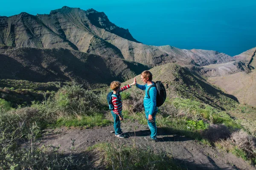
[[[69,153],[70,148],[75,147],[76,153],[100,142],[118,142],[125,144],[136,144],[140,148],[150,147],[157,152],[171,154],[172,157],[188,170],[254,170],[241,158],[233,154],[224,153],[215,148],[205,146],[199,142],[189,139],[185,136],[178,136],[171,131],[158,128],[158,138],[160,142],[148,142],[144,136],[149,136],[150,131],[146,125],[140,125],[138,122],[129,120],[122,122],[122,130],[128,135],[127,139],[119,139],[110,131],[113,126],[95,127],[92,129],[83,128],[58,128],[47,130],[44,134],[41,144],[59,146],[60,151]]]

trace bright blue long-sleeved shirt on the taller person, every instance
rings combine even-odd
[[[152,82],[153,85],[154,85],[154,82]],[[150,88],[149,90],[149,96],[148,96],[148,88],[151,86],[151,85],[139,85],[139,84],[136,84],[136,86],[138,88],[140,88],[141,90],[145,90],[145,96],[144,96],[144,100],[143,100],[143,104],[144,104],[144,108],[145,108],[145,111],[149,111],[149,114],[152,115],[155,111],[158,110],[157,108],[157,88],[156,87],[152,87]]]

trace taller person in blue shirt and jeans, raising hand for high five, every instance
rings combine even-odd
[[[157,108],[157,102],[156,102],[156,98],[157,98],[157,88],[156,87],[151,87],[149,90],[149,96],[148,96],[148,88],[151,85],[154,85],[154,82],[152,82],[152,74],[150,71],[143,71],[140,74],[140,78],[141,81],[143,81],[145,83],[145,85],[139,85],[137,84],[136,78],[135,78],[135,82],[136,82],[136,86],[138,88],[140,88],[141,90],[145,90],[145,96],[144,96],[144,108],[145,108],[145,116],[148,119],[148,127],[151,131],[151,135],[150,138],[146,138],[146,140],[148,141],[153,141],[153,142],[157,142],[157,125],[156,125],[156,114],[158,111]]]

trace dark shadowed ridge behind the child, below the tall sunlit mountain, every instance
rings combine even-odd
[[[17,48],[0,54],[0,78],[32,82],[73,81],[107,84],[125,81],[149,67],[113,57],[64,48]]]

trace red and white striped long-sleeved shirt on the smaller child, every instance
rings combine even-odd
[[[122,98],[120,95],[120,92],[127,90],[128,88],[131,88],[131,85],[125,85],[118,91],[118,94],[112,94],[112,103],[114,105],[113,112],[117,115],[122,113]]]

